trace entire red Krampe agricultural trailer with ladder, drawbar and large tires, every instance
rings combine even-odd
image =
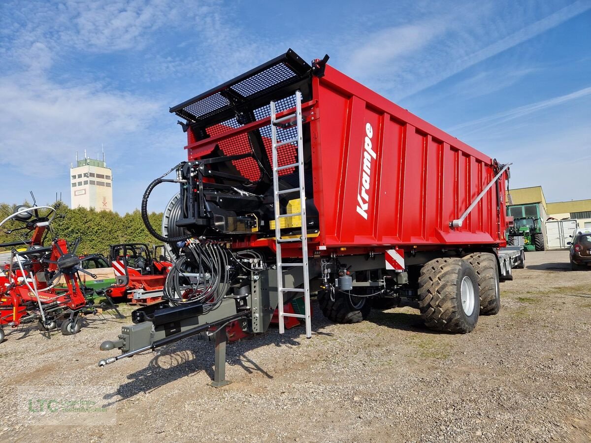
[[[122,354],[216,332],[267,330],[275,307],[306,322],[310,294],[339,323],[418,301],[430,328],[471,331],[499,310],[499,281],[522,259],[505,246],[508,165],[460,142],[326,64],[292,50],[171,108],[187,161],[152,181],[148,230],[176,258],[165,301],[101,345]],[[147,202],[180,184],[162,233]],[[303,298],[303,312],[284,303]]]

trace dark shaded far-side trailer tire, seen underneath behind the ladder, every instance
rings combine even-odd
[[[369,297],[336,292],[331,297],[330,291],[318,291],[318,304],[324,317],[335,323],[359,323],[368,318],[371,312]]]

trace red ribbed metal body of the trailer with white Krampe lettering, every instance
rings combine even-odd
[[[230,80],[228,83],[232,83]],[[462,227],[457,219],[499,172],[498,164],[441,129],[400,108],[388,99],[330,66],[323,76],[311,76],[310,100],[303,103],[310,126],[311,178],[319,232],[309,238],[310,255],[346,247],[346,253],[401,249],[439,249],[450,245],[505,246],[505,180],[503,174],[470,211]],[[234,82],[236,83],[236,82]],[[197,101],[215,102],[220,86]],[[181,104],[171,111],[197,106]],[[285,115],[288,105],[278,117]],[[194,112],[194,108],[191,109]],[[189,161],[207,158],[219,148],[225,155],[251,151],[249,133],[258,132],[270,158],[268,106],[259,118],[240,125],[236,120],[215,122],[207,138],[194,126],[187,131]],[[189,119],[190,121],[190,119]],[[296,145],[281,152],[278,165],[292,164]],[[261,173],[252,158],[233,162],[251,180]],[[281,174],[293,172],[284,170]],[[259,235],[235,239],[234,247],[269,247],[274,240]],[[297,255],[297,246],[291,254]],[[290,247],[284,247],[290,255]]]

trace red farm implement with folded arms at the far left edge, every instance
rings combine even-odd
[[[0,244],[20,247],[11,250],[0,273],[0,342],[4,340],[5,327],[37,322],[40,331],[59,328],[63,335],[72,335],[82,328],[83,316],[99,310],[116,311],[108,297],[106,303],[97,305],[92,294],[82,290],[79,274],[93,275],[80,266],[81,259],[76,255],[79,240],[69,245],[64,239],[53,239],[44,246],[55,215],[56,210],[50,206],[18,207],[0,222],[5,233],[18,233],[20,237]],[[20,236],[23,230],[32,232],[30,239]],[[65,287],[58,287],[64,281]]]

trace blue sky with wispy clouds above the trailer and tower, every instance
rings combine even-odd
[[[335,5],[3,1],[0,201],[68,202],[76,151],[104,145],[115,210],[134,210],[184,159],[168,108],[289,47],[513,162],[511,187],[591,198],[591,0]]]

